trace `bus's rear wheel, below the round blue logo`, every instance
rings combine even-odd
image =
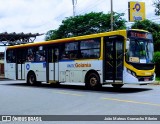
[[[27,76],[27,84],[37,85],[36,75],[33,72],[29,72]]]

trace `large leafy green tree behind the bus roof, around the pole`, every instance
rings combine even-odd
[[[114,13],[114,30],[126,28],[126,20],[122,19],[123,15],[123,13]],[[62,21],[57,30],[48,31],[45,39],[51,40],[109,31],[110,17],[111,14],[103,14],[102,12],[68,17]]]

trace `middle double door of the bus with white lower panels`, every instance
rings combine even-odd
[[[59,80],[59,63],[58,63],[59,49],[49,48],[48,51],[48,68],[47,76],[49,83],[56,83]]]

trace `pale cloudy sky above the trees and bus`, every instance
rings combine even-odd
[[[111,0],[77,0],[75,14],[89,12],[108,13]],[[113,11],[125,13],[128,21],[128,2],[135,0],[113,0]],[[153,0],[136,0],[145,2],[146,18],[159,21],[154,15]],[[73,16],[72,0],[0,0],[0,33],[24,32],[46,33],[57,29],[62,20]],[[130,23],[128,23],[130,25]],[[43,36],[35,40],[44,41]],[[1,49],[1,48],[0,48]]]

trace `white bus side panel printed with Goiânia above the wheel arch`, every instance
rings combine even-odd
[[[59,63],[60,82],[84,82],[86,73],[94,70],[102,82],[102,60],[64,61]]]

